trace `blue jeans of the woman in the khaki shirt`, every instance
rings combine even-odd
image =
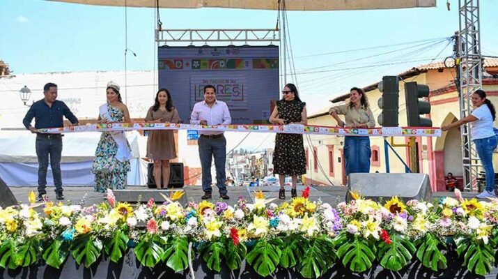
[[[346,176],[359,172],[370,172],[370,137],[345,137],[344,160]]]

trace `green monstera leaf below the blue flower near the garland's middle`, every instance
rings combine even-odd
[[[247,254],[247,263],[249,263],[260,276],[269,276],[277,269],[282,254],[278,243],[282,243],[282,241],[277,239],[275,239],[275,241],[259,239],[251,252]]]

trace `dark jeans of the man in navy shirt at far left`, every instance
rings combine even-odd
[[[61,157],[62,136],[61,135],[37,135],[36,156],[38,156],[38,194],[45,195],[47,190],[47,168],[52,167],[54,186],[56,193],[62,193]]]

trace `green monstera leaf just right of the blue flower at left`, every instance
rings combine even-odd
[[[93,236],[93,234],[84,234],[78,236],[75,241],[73,241],[72,246],[72,257],[75,258],[77,264],[81,264],[84,260],[84,265],[86,268],[90,267],[97,259],[100,257],[100,252],[102,252],[102,241]]]

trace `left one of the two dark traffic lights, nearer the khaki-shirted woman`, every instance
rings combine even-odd
[[[382,92],[382,97],[378,101],[379,108],[382,110],[377,119],[380,126],[398,127],[398,77],[382,77],[378,88]]]

